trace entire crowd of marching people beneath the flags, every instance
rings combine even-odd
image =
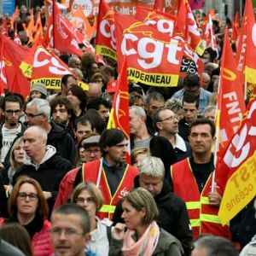
[[[44,8],[39,14],[44,21]],[[20,20],[28,18],[22,8]],[[212,188],[223,40],[214,28],[218,55],[205,50],[201,75],[188,74],[177,88],[129,81],[130,137],[107,130],[118,79],[109,58],[103,65],[89,52],[62,53],[75,75],[65,74],[59,91],[43,83],[26,99],[6,91],[1,255],[256,255],[256,199],[223,226],[224,191],[218,180]]]

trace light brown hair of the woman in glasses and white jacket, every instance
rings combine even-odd
[[[96,204],[96,212],[99,212],[104,203],[103,195],[102,191],[98,189],[94,183],[79,183],[79,185],[77,185],[77,187],[73,190],[71,201],[76,204],[78,197],[83,190],[90,192]]]

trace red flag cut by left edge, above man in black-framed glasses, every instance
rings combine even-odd
[[[29,82],[20,70],[20,63],[15,59],[15,49],[12,50],[12,47],[9,44],[10,41],[9,38],[0,35],[1,92],[3,92],[3,89],[8,89],[11,92],[20,93],[26,98],[30,90]]]

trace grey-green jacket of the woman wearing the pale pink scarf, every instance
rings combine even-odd
[[[123,240],[114,238],[110,241],[108,256],[121,256]],[[183,255],[183,247],[181,243],[166,230],[160,229],[159,241],[154,249],[152,256],[181,256]]]

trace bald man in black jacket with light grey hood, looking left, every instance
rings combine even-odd
[[[26,156],[24,165],[15,173],[17,177],[26,175],[40,183],[51,211],[62,177],[73,168],[71,163],[56,152],[55,147],[46,145],[47,132],[40,126],[28,128],[23,135]]]

